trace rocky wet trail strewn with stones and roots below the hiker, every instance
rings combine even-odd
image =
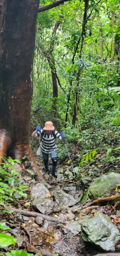
[[[35,181],[25,162],[18,177],[21,185],[28,185],[27,197],[16,194],[18,203],[8,207],[14,210],[13,214],[1,219],[11,227],[6,234],[17,238],[15,248],[39,256],[120,255],[120,212],[112,212],[111,204],[90,205],[91,199],[81,203],[91,177],[80,182],[73,177],[71,166],[58,164],[56,179],[45,174],[42,159],[35,158],[47,185]],[[21,172],[20,165],[16,164],[16,168]]]

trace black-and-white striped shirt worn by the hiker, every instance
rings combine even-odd
[[[41,137],[42,135],[42,131],[40,130],[38,134],[38,136]],[[54,134],[56,138],[59,138],[61,135],[59,134],[58,131],[54,130]],[[49,134],[47,135],[46,133],[43,135],[42,137],[42,141],[41,141],[41,151],[49,154],[52,153],[53,151],[57,150],[57,145],[56,145],[56,138],[54,138],[53,134]]]

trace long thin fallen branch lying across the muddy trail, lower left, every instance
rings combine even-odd
[[[42,213],[39,213],[39,212],[30,212],[30,211],[26,211],[26,210],[20,210],[20,209],[16,209],[16,208],[8,208],[14,212],[19,212],[21,215],[24,215],[24,216],[28,216],[28,217],[42,217],[43,219],[45,220],[48,220],[48,221],[53,221],[53,222],[59,222],[59,223],[64,223],[63,220],[59,219],[59,218],[54,218],[54,217],[51,217],[51,216],[48,216],[48,215],[45,215],[45,214],[42,214]]]

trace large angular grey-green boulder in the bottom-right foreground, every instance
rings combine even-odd
[[[119,230],[102,212],[81,223],[81,236],[84,241],[96,244],[106,251],[114,251],[120,240]]]

